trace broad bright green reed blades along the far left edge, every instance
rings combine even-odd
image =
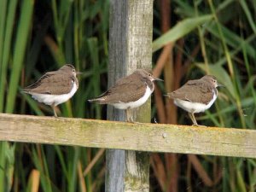
[[[18,9],[17,4],[16,0],[11,2],[3,0],[0,4],[1,13],[3,14],[0,20],[0,112],[4,111],[6,113],[14,112],[20,70],[26,53],[27,37],[31,29],[32,20],[33,1],[22,1],[20,2],[19,8],[18,25],[15,26],[15,12]],[[12,68],[12,70],[9,70],[9,68]],[[8,79],[9,76],[10,78]],[[6,98],[5,94],[7,95]],[[0,148],[0,183],[2,183],[0,185],[0,191],[2,192],[9,191],[12,188],[15,145],[3,142],[0,143]]]

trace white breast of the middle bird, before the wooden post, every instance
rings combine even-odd
[[[127,109],[127,108],[138,108],[141,105],[143,105],[144,102],[147,102],[148,97],[152,94],[152,90],[147,85],[146,92],[142,98],[137,100],[136,102],[119,102],[119,103],[112,103],[114,108],[119,108],[119,109]]]

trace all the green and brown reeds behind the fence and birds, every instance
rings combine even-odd
[[[162,5],[170,6],[170,13]],[[107,89],[108,9],[104,0],[0,1],[0,112],[52,115],[48,106],[19,90],[45,72],[72,63],[83,72],[79,90],[57,113],[104,119],[105,108],[86,100]],[[172,102],[160,106],[162,95],[188,79],[212,73],[225,88],[197,119],[203,125],[254,129],[255,15],[254,1],[155,1],[154,62],[166,87],[155,95],[153,117],[158,115],[160,123],[190,124]],[[165,35],[162,20],[171,26]],[[167,58],[165,63],[160,55]],[[102,154],[93,148],[0,143],[0,192],[103,191]],[[151,167],[152,191],[256,190],[255,160],[153,154]]]

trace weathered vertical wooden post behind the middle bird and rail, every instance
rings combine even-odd
[[[137,68],[151,68],[154,0],[110,0],[108,86]],[[150,122],[150,101],[134,119]],[[108,119],[125,120],[125,112],[108,106]],[[147,153],[108,149],[106,192],[149,191]]]

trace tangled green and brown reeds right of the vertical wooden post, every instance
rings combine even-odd
[[[176,58],[182,52],[183,63],[182,70],[179,70],[178,62],[174,63],[172,72],[174,77],[166,80],[179,79],[178,77],[181,76],[183,78],[179,84],[183,84],[188,79],[200,78],[205,73],[215,75],[225,88],[219,89],[215,108],[211,108],[205,114],[197,115],[198,119],[204,125],[255,129],[256,70],[253,48],[256,43],[255,22],[253,22],[256,13],[255,3],[212,0],[188,3],[175,0],[171,6],[172,17],[183,21],[176,26],[176,23],[173,24],[166,35],[160,36],[159,33],[155,33],[157,39],[154,44],[160,42],[160,38],[166,38],[165,44],[167,42],[175,44],[173,61],[177,61]],[[158,3],[156,8],[160,8]],[[191,29],[195,23],[191,21],[186,27],[185,20],[191,20],[191,17],[202,18],[205,15],[212,15],[212,20],[206,20],[204,24],[197,26],[197,31],[193,30],[183,36],[183,46],[175,43],[177,38],[172,34],[176,32],[177,27]],[[158,20],[162,20],[159,16],[155,16]],[[182,25],[184,26],[181,27]],[[201,49],[197,49],[198,46]],[[154,54],[156,60],[158,55],[159,51]],[[186,113],[179,109],[177,113],[179,123],[190,123]],[[195,158],[189,155],[187,161],[183,160],[183,156],[177,156],[182,161],[177,164],[179,166],[177,170],[180,169],[180,172],[176,174],[179,177],[177,183],[184,183],[183,186],[186,187],[177,185],[179,187],[175,189],[168,186],[170,181],[166,179],[170,172],[168,169],[170,162],[153,156],[153,165],[158,164],[154,166],[154,174],[159,176],[158,183],[163,191],[255,191],[256,189],[253,181],[256,177],[255,160],[208,156]],[[172,165],[174,163],[172,162]]]

